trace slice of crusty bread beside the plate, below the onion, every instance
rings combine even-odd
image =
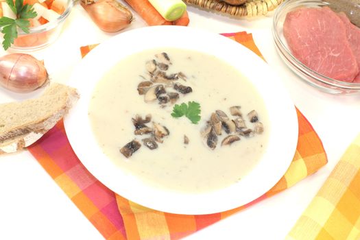
[[[52,82],[36,99],[0,104],[0,154],[16,152],[40,139],[78,97],[74,88]]]

